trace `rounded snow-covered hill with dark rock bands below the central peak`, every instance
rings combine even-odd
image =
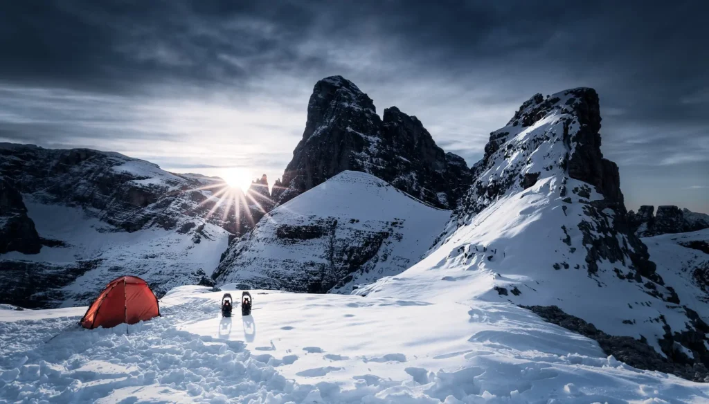
[[[234,242],[217,284],[350,293],[418,262],[450,219],[381,179],[342,172],[275,208]]]

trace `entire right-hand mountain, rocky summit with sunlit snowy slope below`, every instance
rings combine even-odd
[[[467,204],[437,249],[356,293],[556,305],[608,335],[640,345],[647,340],[658,361],[666,358],[685,377],[703,380],[709,307],[682,298],[702,291],[665,279],[674,266],[656,271],[626,225],[617,168],[614,184],[608,172],[615,165],[598,150],[598,98],[591,91],[527,101],[508,126],[492,133]],[[649,359],[636,359],[636,366],[657,369]],[[684,364],[690,364],[686,371]]]

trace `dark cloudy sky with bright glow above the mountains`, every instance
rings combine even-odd
[[[707,1],[4,1],[0,141],[280,176],[341,74],[469,164],[533,94],[592,86],[628,208],[709,212]]]

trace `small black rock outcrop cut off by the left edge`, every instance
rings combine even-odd
[[[37,254],[41,248],[42,240],[35,223],[27,217],[21,193],[0,177],[0,254],[11,251]]]

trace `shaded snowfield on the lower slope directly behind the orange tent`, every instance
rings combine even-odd
[[[142,277],[162,296],[211,276],[228,246],[228,232],[199,218],[194,219],[199,232],[148,228],[128,233],[111,231],[81,208],[32,198],[26,206],[40,235],[62,245],[45,246],[39,254],[2,254],[0,283],[6,298],[22,294],[45,308],[86,305],[108,281],[124,274]]]

